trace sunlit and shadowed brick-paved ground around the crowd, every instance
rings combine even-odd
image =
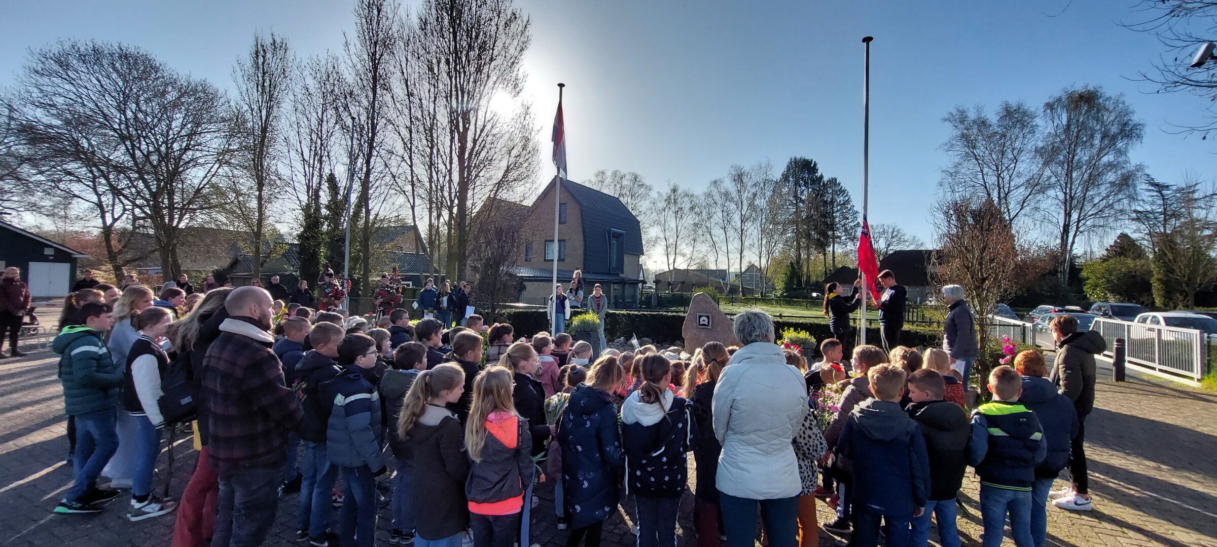
[[[62,391],[56,360],[47,351],[24,359],[0,360],[0,546],[164,546],[172,515],[141,523],[123,519],[123,498],[100,515],[52,515],[51,508],[71,484]],[[1058,546],[1217,546],[1217,394],[1176,384],[1134,378],[1115,384],[1104,378],[1098,407],[1087,422],[1092,494],[1095,511],[1065,513],[1049,509],[1049,545]],[[175,447],[178,462],[172,492],[179,495],[195,466],[189,441]],[[164,467],[162,455],[161,468]],[[158,485],[162,480],[157,479]],[[797,479],[796,479],[797,480]],[[1059,481],[1060,486],[1062,483]],[[159,486],[158,486],[159,487]],[[970,512],[960,515],[965,545],[978,545],[980,512],[976,483],[964,494]],[[553,517],[553,490],[540,485],[534,541],[565,545]],[[285,496],[271,541],[290,542],[288,512],[296,496]],[[691,500],[682,511],[682,546],[692,540],[685,526]],[[387,529],[387,511],[381,528]],[[820,521],[829,509],[820,506]],[[633,545],[618,514],[606,529],[611,547]],[[381,538],[387,545],[387,537]],[[821,545],[843,545],[821,534]],[[1006,545],[1013,545],[1009,540]]]

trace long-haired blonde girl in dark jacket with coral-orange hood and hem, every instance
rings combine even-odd
[[[515,345],[532,351],[528,344]],[[510,355],[509,349],[500,362],[510,361]],[[465,485],[473,547],[511,546],[521,514],[527,518],[531,506],[526,500],[535,475],[532,435],[511,402],[511,378],[507,368],[492,366],[473,380],[473,405],[465,423],[465,449],[473,461]],[[531,545],[527,530],[523,526],[520,545]]]

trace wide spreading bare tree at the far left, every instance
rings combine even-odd
[[[180,274],[181,230],[214,210],[213,185],[234,153],[231,108],[213,85],[178,74],[147,52],[65,40],[29,53],[19,84],[84,124],[103,153],[107,191],[146,220],[167,277]]]

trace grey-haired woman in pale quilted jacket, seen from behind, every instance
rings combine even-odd
[[[798,537],[798,461],[791,444],[808,412],[807,384],[774,344],[773,318],[758,309],[735,316],[741,348],[714,387],[719,507],[728,547],[752,547],[757,506],[769,547]]]

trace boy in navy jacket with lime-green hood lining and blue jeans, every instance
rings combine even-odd
[[[981,479],[981,542],[985,547],[1000,546],[1009,514],[1014,543],[1032,547],[1031,491],[1036,464],[1048,453],[1044,430],[1034,412],[1017,402],[1022,379],[1014,368],[994,368],[988,385],[993,402],[972,411],[972,438],[968,442],[969,463]]]

